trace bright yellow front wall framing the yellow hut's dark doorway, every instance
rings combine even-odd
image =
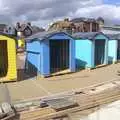
[[[4,79],[0,78],[0,81],[12,81],[17,79],[16,43],[14,39],[3,35],[0,35],[0,40],[7,40],[8,47],[8,73]]]

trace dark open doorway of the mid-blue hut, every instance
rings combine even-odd
[[[69,68],[69,40],[50,40],[50,72]]]

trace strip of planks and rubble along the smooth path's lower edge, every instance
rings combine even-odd
[[[73,112],[87,110],[119,99],[120,80],[116,80],[85,89],[72,90],[68,94],[52,95],[35,101],[16,103],[13,107],[17,112],[16,115],[19,116],[15,120],[49,120],[61,118]],[[0,108],[0,115],[2,113],[8,117],[14,111],[8,103],[3,103]]]

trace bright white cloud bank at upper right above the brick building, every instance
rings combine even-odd
[[[98,5],[94,7],[85,7],[76,11],[75,17],[99,17],[102,16],[106,21],[120,22],[120,6],[116,5]]]

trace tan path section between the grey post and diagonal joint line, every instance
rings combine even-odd
[[[12,101],[47,95],[32,80],[7,84]]]

